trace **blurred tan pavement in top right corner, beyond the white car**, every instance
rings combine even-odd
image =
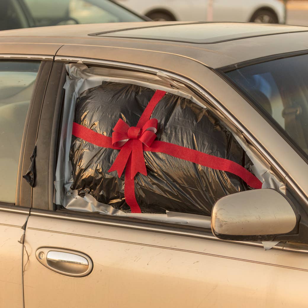
[[[308,26],[308,1],[289,0],[287,2],[287,20],[289,25]]]

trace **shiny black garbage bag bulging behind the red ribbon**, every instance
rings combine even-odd
[[[136,126],[155,90],[124,83],[103,82],[84,91],[76,102],[74,121],[104,136],[121,118]],[[151,118],[158,119],[156,140],[177,144],[232,160],[245,168],[250,160],[232,134],[207,109],[166,93]],[[102,148],[72,136],[70,160],[78,194],[129,212],[124,199],[124,173],[108,172],[119,150]],[[250,189],[229,172],[204,167],[164,153],[144,152],[148,175],[135,176],[135,195],[142,213],[166,210],[210,216],[221,197]]]

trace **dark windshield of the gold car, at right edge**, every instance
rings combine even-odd
[[[308,154],[308,55],[259,63],[226,74]]]

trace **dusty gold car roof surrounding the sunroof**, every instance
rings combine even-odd
[[[155,22],[146,23],[147,26],[166,24],[168,24],[168,22],[160,22],[157,24]],[[172,24],[174,23],[172,22]],[[233,39],[226,42],[211,44],[189,44],[149,39],[124,39],[88,35],[91,33],[116,31],[125,28],[140,28],[144,27],[144,25],[145,23],[143,22],[109,23],[7,30],[0,32],[0,43],[2,43],[1,46],[5,46],[8,43],[23,43],[23,45],[20,46],[15,45],[18,47],[18,51],[15,51],[15,53],[30,53],[31,48],[33,47],[27,47],[27,45],[31,45],[32,43],[42,44],[42,49],[45,47],[45,44],[65,44],[84,46],[110,46],[114,48],[121,47],[127,48],[126,53],[132,49],[147,50],[181,55],[183,57],[188,57],[194,59],[195,61],[204,63],[204,65],[212,68],[224,67],[270,55],[306,50],[308,48],[306,43],[308,39],[308,27],[302,26],[281,26],[282,28],[286,29],[286,32],[289,32],[290,29],[294,29],[294,31],[298,31],[296,33],[254,36],[245,39]],[[226,25],[245,26],[245,23],[227,23]],[[249,23],[248,25],[249,27],[255,25],[256,29],[260,27],[260,24],[255,23]],[[261,24],[261,26],[269,27],[269,29],[271,28],[270,25]],[[210,36],[210,33],[207,35]],[[288,42],[288,44],[286,44],[286,42]],[[39,46],[36,46],[35,48],[38,49]],[[12,48],[12,50],[13,49],[14,48]],[[5,53],[4,51],[7,52],[7,49],[0,52]],[[43,54],[43,51],[41,54]],[[103,56],[100,55],[96,59],[103,59]]]

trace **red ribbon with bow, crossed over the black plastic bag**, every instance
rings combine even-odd
[[[144,151],[165,153],[183,160],[188,160],[205,167],[233,173],[243,179],[252,188],[261,188],[262,183],[251,172],[232,160],[205,154],[176,144],[154,141],[157,132],[157,119],[150,119],[157,103],[166,94],[156,90],[144,109],[136,127],[129,127],[119,119],[112,137],[103,136],[80,124],[73,123],[72,135],[102,148],[120,150],[108,172],[117,171],[120,177],[125,170],[124,197],[132,213],[141,213],[135,196],[135,175],[140,172],[147,175]]]

